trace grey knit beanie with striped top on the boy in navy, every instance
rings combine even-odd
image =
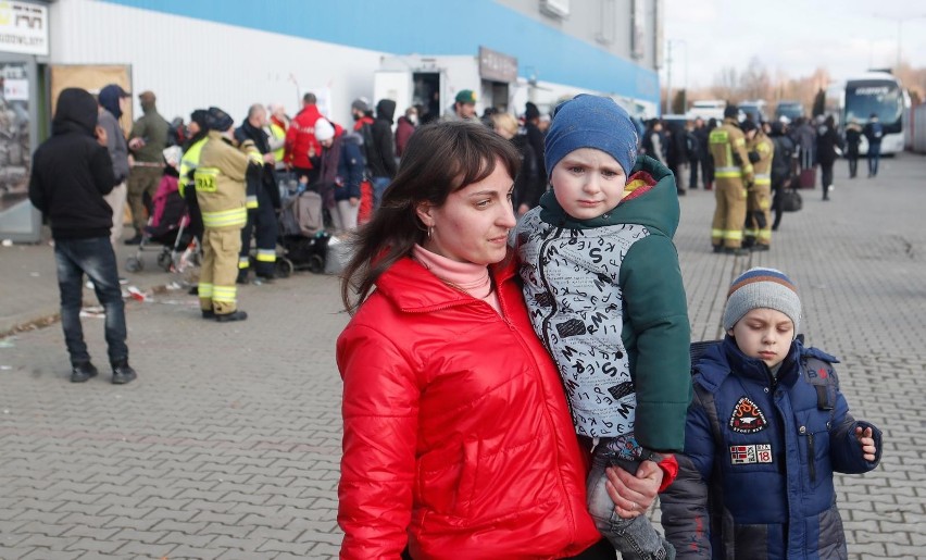
[[[801,321],[801,300],[791,278],[784,272],[756,266],[740,274],[727,291],[724,331],[729,331],[743,315],[759,308],[774,309],[788,315],[794,323],[797,336]]]

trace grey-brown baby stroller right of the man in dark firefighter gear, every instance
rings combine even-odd
[[[328,240],[331,238],[324,226],[322,197],[312,190],[280,190],[279,245],[283,256],[276,260],[276,274],[286,277],[293,270],[320,274],[325,271]]]

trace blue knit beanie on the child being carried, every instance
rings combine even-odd
[[[614,158],[629,175],[637,161],[637,128],[613,99],[580,94],[561,103],[545,141],[547,176],[570,152],[595,148]]]

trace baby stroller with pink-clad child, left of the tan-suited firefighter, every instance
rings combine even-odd
[[[151,206],[151,217],[141,234],[138,251],[126,260],[125,269],[128,272],[143,270],[141,253],[152,250],[152,244],[161,246],[158,265],[166,272],[183,273],[187,267],[198,264],[199,251],[188,227],[187,203],[177,189],[177,177],[170,174],[161,177]]]

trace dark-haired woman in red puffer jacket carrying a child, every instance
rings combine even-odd
[[[360,231],[337,344],[341,558],[614,558],[508,252],[518,161],[486,127],[427,125]]]

